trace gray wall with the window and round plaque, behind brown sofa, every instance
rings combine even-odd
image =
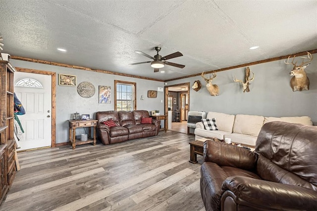
[[[26,62],[20,60],[11,60],[10,63],[14,67],[28,68],[35,70],[56,72],[56,143],[68,141],[68,121],[72,118],[74,112],[80,114],[89,114],[95,118],[97,111],[114,110],[114,80],[136,82],[137,83],[137,109],[138,110],[159,110],[164,111],[164,93],[158,92],[157,98],[148,98],[148,90],[158,90],[158,87],[163,87],[164,83],[116,76],[104,73],[96,73],[90,71],[83,71],[78,69],[71,69],[65,67],[58,67],[53,65],[39,64],[33,62]],[[81,82],[90,82],[96,88],[95,95],[91,98],[83,98],[77,93],[77,86],[63,86],[58,85],[58,74],[69,74],[77,76],[77,85]],[[111,86],[111,103],[100,104],[98,101],[98,86]],[[141,100],[141,95],[144,100]],[[161,100],[163,102],[161,102]],[[161,123],[163,124],[163,122]],[[83,128],[78,128],[76,134],[87,133]]]

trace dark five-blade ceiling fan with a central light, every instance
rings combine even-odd
[[[159,55],[159,51],[160,51],[160,47],[154,47],[154,49],[157,51],[157,55],[155,55],[154,57],[153,56],[150,56],[149,54],[146,54],[146,53],[143,53],[142,51],[134,51],[136,53],[139,53],[141,55],[144,55],[150,59],[153,59],[154,61],[147,61],[147,62],[138,62],[138,63],[133,63],[133,64],[129,64],[129,65],[136,65],[136,64],[144,64],[144,63],[150,63],[151,62],[151,67],[154,68],[154,72],[159,72],[159,68],[162,68],[166,65],[170,65],[170,66],[174,66],[174,67],[178,67],[178,68],[184,68],[185,65],[182,65],[182,64],[176,64],[176,63],[173,63],[173,62],[168,62],[166,61],[167,59],[172,59],[172,58],[176,58],[176,57],[179,57],[179,56],[182,56],[183,54],[179,51],[175,52],[175,53],[172,53],[172,54],[169,54],[167,56],[161,56]]]

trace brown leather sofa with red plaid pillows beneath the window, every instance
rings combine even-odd
[[[113,144],[136,138],[144,138],[159,134],[160,121],[152,120],[152,124],[141,124],[142,118],[149,118],[145,110],[135,111],[100,111],[96,113],[97,137],[103,144]],[[104,122],[112,120],[115,127],[108,127]]]

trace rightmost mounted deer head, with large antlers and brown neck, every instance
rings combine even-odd
[[[296,65],[297,62],[294,63],[295,55],[291,63],[288,62],[289,57],[287,62],[284,61],[284,63],[293,65],[293,69],[289,73],[289,75],[293,76],[291,78],[291,87],[293,91],[309,90],[309,79],[306,75],[305,68],[308,67],[308,65],[310,65],[309,62],[313,60],[312,54],[307,51],[307,57],[301,57],[303,58],[303,61],[300,65]],[[308,60],[305,61],[305,59]]]

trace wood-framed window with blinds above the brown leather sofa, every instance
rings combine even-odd
[[[114,92],[114,110],[136,110],[136,83],[114,81],[114,87],[116,89]]]

